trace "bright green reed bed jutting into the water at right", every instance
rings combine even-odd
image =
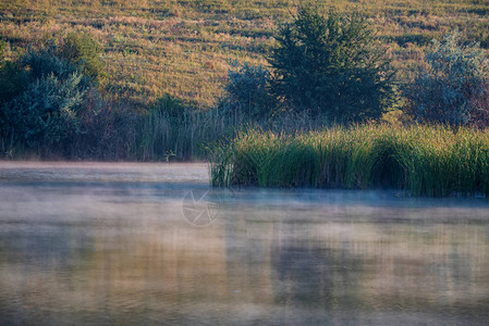
[[[395,188],[489,196],[489,130],[363,125],[295,135],[241,133],[211,155],[213,186]]]

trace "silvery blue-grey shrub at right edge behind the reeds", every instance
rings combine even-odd
[[[407,87],[407,111],[418,121],[468,125],[488,122],[489,62],[478,43],[455,30],[433,40],[426,66]]]

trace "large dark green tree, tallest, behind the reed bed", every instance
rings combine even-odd
[[[272,90],[291,109],[357,122],[378,118],[394,98],[384,51],[357,12],[304,5],[276,36]]]

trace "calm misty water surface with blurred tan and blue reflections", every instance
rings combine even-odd
[[[0,324],[488,325],[489,201],[0,163]]]

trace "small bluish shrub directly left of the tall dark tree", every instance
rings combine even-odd
[[[268,88],[270,72],[262,65],[243,65],[233,63],[228,73],[229,104],[233,110],[240,110],[252,118],[269,116],[274,109],[274,100]]]

